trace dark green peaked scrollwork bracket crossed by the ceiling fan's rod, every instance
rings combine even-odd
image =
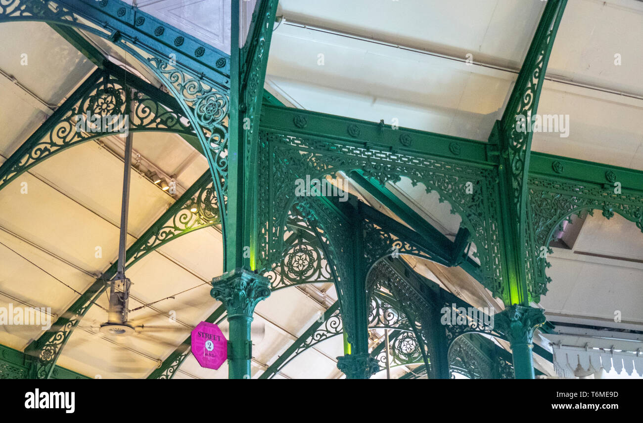
[[[131,120],[125,110],[128,88],[134,89],[137,104]],[[93,117],[89,119],[88,116]],[[107,126],[100,123],[94,131],[78,123],[86,118],[86,122],[92,123],[96,117],[106,122]],[[102,69],[96,69],[0,166],[0,189],[54,154],[96,138],[125,131],[161,131],[194,139],[194,129],[183,121],[186,118],[172,96],[138,76],[105,62]],[[126,127],[128,123],[129,127]]]

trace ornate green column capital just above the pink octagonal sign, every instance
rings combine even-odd
[[[235,316],[252,318],[257,303],[270,296],[270,282],[264,276],[238,267],[213,278],[210,295],[223,303],[228,319]]]

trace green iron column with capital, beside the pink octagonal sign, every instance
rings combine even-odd
[[[269,296],[269,284],[257,269],[258,120],[277,0],[258,0],[240,48],[240,0],[231,3],[230,115],[228,132],[228,202],[224,225],[225,273],[212,281],[212,296],[228,311],[228,377],[250,377],[250,324],[255,305]]]

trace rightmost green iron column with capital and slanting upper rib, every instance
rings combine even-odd
[[[532,336],[544,323],[539,309],[529,307],[532,301],[527,280],[527,178],[532,132],[532,116],[536,117],[538,100],[545,81],[545,72],[556,31],[563,17],[566,0],[550,0],[536,28],[516,84],[512,89],[502,120],[496,122],[489,137],[500,154],[498,165],[500,215],[503,233],[502,299],[507,308],[496,320],[505,329],[511,343],[516,379],[533,379]]]

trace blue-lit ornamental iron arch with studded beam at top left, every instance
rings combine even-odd
[[[82,23],[81,17],[96,27]],[[224,119],[228,116],[230,101],[227,85],[230,80],[224,73],[228,69],[226,63],[222,63],[224,66],[219,66],[222,69],[218,71],[197,73],[194,69],[206,70],[203,60],[190,57],[183,50],[167,48],[169,44],[165,38],[178,34],[178,30],[162,22],[158,28],[163,28],[163,31],[157,28],[154,35],[143,31],[150,23],[161,21],[120,0],[5,0],[0,4],[0,23],[24,21],[48,22],[87,31],[113,42],[148,67],[174,96],[183,115],[192,124],[210,166],[216,196],[221,201],[219,207],[222,211],[226,209],[228,130]],[[176,37],[174,46],[179,48],[186,40],[189,40],[188,44],[197,42],[183,34]],[[170,57],[169,51],[175,51],[178,60]],[[196,55],[195,52],[193,56]],[[226,60],[221,52],[208,46],[203,59],[212,60],[214,57],[218,57],[217,66],[221,59]],[[190,67],[182,64],[181,60],[190,62]],[[224,237],[225,221],[226,213],[221,213]]]

